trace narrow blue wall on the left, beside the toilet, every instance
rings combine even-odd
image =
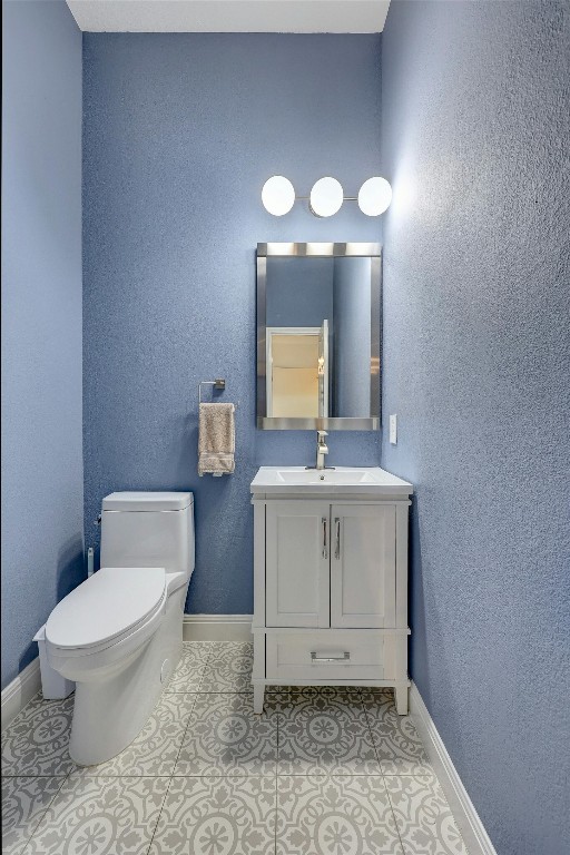
[[[81,33],[2,3],[2,687],[85,574]]]

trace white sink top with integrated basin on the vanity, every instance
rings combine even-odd
[[[254,495],[318,495],[355,493],[363,495],[407,498],[412,484],[379,466],[262,466],[252,481]]]

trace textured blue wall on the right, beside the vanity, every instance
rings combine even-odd
[[[570,852],[569,18],[392,2],[382,43],[412,674],[500,855]]]

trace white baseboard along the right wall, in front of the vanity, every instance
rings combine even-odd
[[[445,793],[469,855],[497,855],[479,814],[448,754],[417,686],[410,689],[410,716],[420,734],[433,769]]]

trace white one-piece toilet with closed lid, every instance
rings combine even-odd
[[[101,569],[46,625],[50,666],[76,682],[77,764],[108,760],[142,729],[180,656],[193,570],[193,493],[104,499]]]

